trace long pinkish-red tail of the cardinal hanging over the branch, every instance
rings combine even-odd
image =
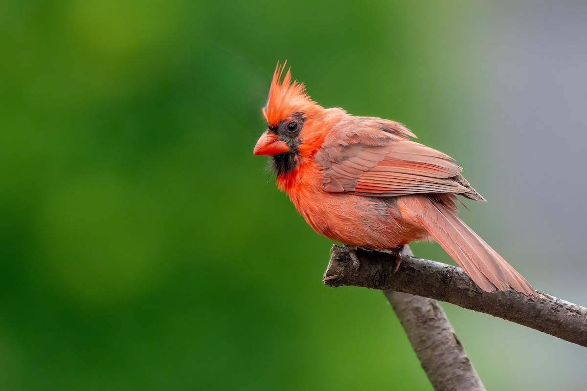
[[[450,208],[446,200],[411,200],[416,207],[410,208],[416,212],[414,217],[481,289],[492,292],[511,287],[527,295],[536,294],[524,277],[457,216],[454,203],[449,201]]]

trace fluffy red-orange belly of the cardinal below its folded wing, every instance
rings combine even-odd
[[[402,215],[396,197],[325,192],[290,196],[316,232],[344,244],[384,250],[429,239],[423,226]]]

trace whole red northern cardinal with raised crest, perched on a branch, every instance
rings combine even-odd
[[[399,251],[436,240],[485,291],[535,290],[457,216],[456,194],[484,201],[454,159],[411,141],[404,125],[323,108],[275,69],[253,153],[272,157],[277,185],[312,228],[332,240]],[[399,256],[400,257],[400,256]],[[401,259],[401,258],[399,258]]]

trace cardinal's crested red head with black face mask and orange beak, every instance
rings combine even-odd
[[[323,139],[320,123],[325,111],[306,94],[303,83],[292,81],[289,69],[281,81],[284,70],[285,63],[283,66],[278,63],[263,108],[268,129],[253,150],[255,155],[272,156],[277,174],[292,171],[301,158],[320,147]]]

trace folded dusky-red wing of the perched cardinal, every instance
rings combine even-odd
[[[316,152],[328,192],[390,197],[453,193],[484,200],[461,175],[454,159],[369,123],[333,129]]]

